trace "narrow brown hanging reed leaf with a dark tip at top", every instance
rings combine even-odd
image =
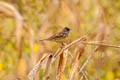
[[[49,70],[51,67],[52,57],[53,57],[52,54],[48,57],[43,80],[49,80]]]

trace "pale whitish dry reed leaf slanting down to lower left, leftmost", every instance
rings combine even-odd
[[[34,80],[37,72],[40,69],[40,66],[42,65],[42,62],[49,56],[49,54],[44,54],[42,58],[37,62],[37,64],[33,67],[33,69],[29,72],[27,76],[27,80]]]

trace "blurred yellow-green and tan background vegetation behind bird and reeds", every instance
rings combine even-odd
[[[85,35],[87,41],[120,45],[120,0],[0,0],[0,80],[25,80],[43,54],[54,54],[60,46],[37,41],[66,26],[71,29],[68,43]],[[86,46],[79,66],[94,48]],[[75,48],[70,52],[74,56]],[[63,80],[69,76],[71,61],[68,56]],[[58,61],[51,67],[50,80],[55,80],[56,64]],[[103,47],[84,70],[89,80],[120,80],[120,49]],[[44,66],[36,80],[43,73]]]

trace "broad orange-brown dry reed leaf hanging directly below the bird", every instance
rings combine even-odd
[[[68,49],[64,50],[60,54],[56,80],[62,80],[61,76],[62,76],[62,73],[64,72],[64,69],[65,69],[65,65],[67,62],[67,56],[68,56]]]

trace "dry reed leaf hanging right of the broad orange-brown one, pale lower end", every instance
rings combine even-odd
[[[85,44],[82,44],[79,48],[79,50],[77,51],[77,53],[75,54],[74,58],[73,58],[73,62],[72,62],[72,67],[71,67],[71,72],[70,72],[70,76],[69,76],[69,80],[74,80],[74,75],[77,72],[78,69],[78,65],[79,65],[79,59],[82,56],[82,54],[84,53],[84,49],[85,49]]]

